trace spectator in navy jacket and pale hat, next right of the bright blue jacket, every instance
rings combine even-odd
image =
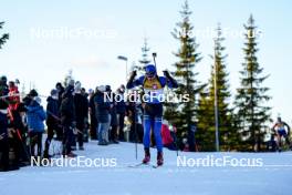
[[[49,158],[49,148],[54,137],[54,132],[60,131],[60,111],[59,111],[59,94],[56,90],[51,91],[51,96],[46,99],[46,126],[48,126],[48,137],[44,143],[43,157]],[[58,133],[56,133],[58,134]]]

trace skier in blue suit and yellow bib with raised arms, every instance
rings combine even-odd
[[[153,130],[157,146],[157,165],[164,164],[163,157],[163,142],[161,142],[161,117],[163,117],[163,102],[164,88],[177,88],[177,82],[170,76],[167,71],[164,71],[165,76],[158,76],[156,66],[148,64],[145,66],[146,74],[136,79],[136,71],[134,71],[127,83],[127,89],[142,85],[144,89],[145,107],[144,107],[144,137],[143,144],[145,150],[144,164],[150,161],[150,130]]]

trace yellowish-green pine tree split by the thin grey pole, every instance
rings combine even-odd
[[[228,73],[226,70],[225,47],[222,47],[222,31],[218,24],[217,37],[215,38],[215,53],[211,55],[211,79],[209,91],[201,93],[198,109],[198,140],[204,151],[215,151],[215,106],[218,107],[219,143],[221,150],[230,150],[229,140],[236,136],[232,131],[231,109],[229,107],[230,91],[228,84]],[[216,88],[215,88],[216,85]],[[217,92],[217,94],[215,93]],[[217,95],[217,105],[215,96]]]

